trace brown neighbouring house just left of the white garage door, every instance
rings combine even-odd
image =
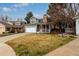
[[[10,32],[22,33],[25,32],[25,21],[12,21],[13,25],[10,27]]]

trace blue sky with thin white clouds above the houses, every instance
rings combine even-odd
[[[29,11],[32,11],[35,17],[42,18],[47,9],[47,3],[0,3],[0,15],[8,15],[13,20],[24,18]]]

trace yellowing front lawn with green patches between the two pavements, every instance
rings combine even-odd
[[[40,56],[74,39],[74,36],[62,37],[53,34],[28,34],[6,43],[15,50],[18,56]]]

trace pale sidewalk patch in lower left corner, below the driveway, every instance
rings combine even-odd
[[[0,44],[0,56],[15,56],[14,50],[7,44]]]

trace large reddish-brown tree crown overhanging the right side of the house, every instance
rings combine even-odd
[[[75,27],[75,20],[73,17],[78,15],[79,4],[75,3],[51,3],[47,14],[50,15],[50,22],[58,25],[60,30],[67,27]]]

